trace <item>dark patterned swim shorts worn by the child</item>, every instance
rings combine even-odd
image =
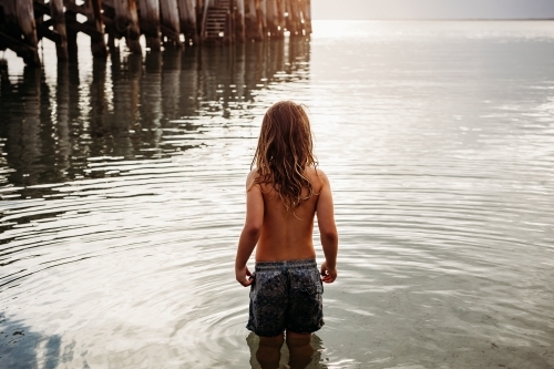
[[[315,259],[256,263],[246,328],[261,337],[324,326],[324,285]]]

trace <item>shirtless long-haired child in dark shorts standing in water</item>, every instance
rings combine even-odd
[[[317,168],[301,105],[284,101],[269,107],[254,165],[235,260],[236,279],[250,286],[247,328],[260,337],[257,358],[264,369],[278,367],[285,331],[290,366],[300,365],[294,360],[307,365],[310,336],[324,325],[321,281],[337,278],[338,235],[329,181]],[[320,273],[312,242],[316,215],[326,259]],[[246,263],[256,246],[250,274]]]

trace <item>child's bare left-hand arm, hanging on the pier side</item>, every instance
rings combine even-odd
[[[250,270],[248,270],[246,263],[258,243],[264,223],[264,196],[258,185],[252,185],[254,176],[253,171],[246,180],[246,221],[240,233],[235,259],[235,277],[244,287],[248,287],[253,283],[252,278],[248,279]]]

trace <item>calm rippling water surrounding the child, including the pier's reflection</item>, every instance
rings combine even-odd
[[[1,368],[255,368],[234,254],[284,99],[340,234],[309,368],[554,368],[554,22],[43,54],[0,90]]]

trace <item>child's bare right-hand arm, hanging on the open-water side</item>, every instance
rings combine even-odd
[[[327,175],[318,170],[322,182],[319,198],[317,201],[316,214],[321,246],[324,247],[325,263],[321,264],[321,280],[331,284],[337,278],[337,252],[339,237],[335,224],[335,211],[332,206],[332,194]]]

